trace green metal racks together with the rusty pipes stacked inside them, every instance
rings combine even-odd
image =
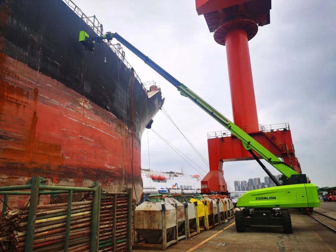
[[[35,176],[26,185],[0,187],[0,195],[7,196],[0,219],[0,251],[131,251],[135,204],[130,189],[101,193],[96,183],[83,188],[46,186],[43,181]],[[73,192],[85,192],[86,200],[72,202]],[[66,196],[59,197],[62,203],[39,205],[42,194]],[[30,195],[29,206],[7,211],[10,195]]]

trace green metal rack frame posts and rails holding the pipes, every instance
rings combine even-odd
[[[67,208],[67,225],[66,235],[64,242],[64,251],[68,252],[69,238],[70,238],[70,221],[71,221],[71,208],[72,208],[72,194],[74,192],[91,192],[93,194],[92,199],[92,212],[91,212],[91,232],[90,232],[90,251],[98,251],[99,249],[99,216],[100,216],[100,199],[101,199],[101,185],[93,183],[92,187],[73,187],[73,186],[50,186],[42,183],[44,179],[40,176],[32,177],[25,185],[14,186],[2,186],[0,187],[0,195],[4,195],[2,215],[7,211],[8,197],[9,195],[30,195],[29,200],[29,213],[28,224],[26,233],[25,252],[33,251],[34,233],[35,233],[35,221],[37,206],[40,202],[40,196],[46,194],[69,194],[68,208]],[[13,191],[13,190],[30,190],[30,192]],[[42,191],[41,191],[42,190]],[[44,191],[47,190],[47,191]],[[115,195],[126,194],[128,195],[128,218],[127,218],[127,250],[131,251],[131,238],[132,238],[132,190],[129,189],[127,193],[109,193]],[[111,241],[116,244],[116,239]],[[115,249],[114,249],[115,251]]]

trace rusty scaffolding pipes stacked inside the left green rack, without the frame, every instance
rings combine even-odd
[[[64,248],[68,204],[40,205],[36,212],[34,251],[49,251]],[[69,251],[78,244],[90,241],[92,201],[74,202],[71,208]],[[0,240],[2,249],[24,251],[27,235],[29,207],[7,211],[1,218]],[[79,250],[76,250],[79,251]],[[81,250],[80,250],[81,251]]]

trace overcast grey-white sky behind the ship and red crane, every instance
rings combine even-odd
[[[193,0],[74,0],[95,14],[104,31],[118,32],[176,79],[229,119],[232,108],[225,47],[217,44]],[[288,122],[302,172],[318,186],[335,186],[336,140],[336,1],[273,0],[271,23],[249,42],[259,123]],[[116,42],[115,42],[116,43]],[[127,49],[126,59],[143,82],[156,81],[166,98],[164,109],[208,159],[207,132],[223,127]],[[208,171],[208,167],[159,111],[152,128]],[[148,155],[148,141],[149,153]],[[141,163],[157,171],[195,171],[154,132],[142,136]],[[267,164],[274,174],[277,170]],[[263,177],[255,161],[226,162],[224,177]]]

